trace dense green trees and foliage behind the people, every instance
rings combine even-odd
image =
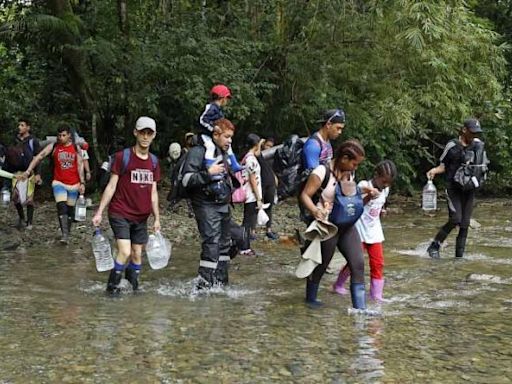
[[[147,114],[163,155],[223,82],[237,144],[250,131],[307,134],[339,106],[343,137],[367,149],[362,172],[391,158],[404,192],[479,117],[488,185],[506,191],[511,12],[512,1],[0,0],[0,139],[19,116],[40,137],[65,121],[88,139],[96,130],[101,158]]]

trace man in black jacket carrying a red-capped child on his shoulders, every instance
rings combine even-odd
[[[198,145],[190,149],[182,171],[182,184],[192,201],[202,240],[199,289],[228,283],[232,184],[227,150],[235,127],[224,118],[217,120],[215,126],[219,130],[212,137],[216,147],[214,164],[206,168],[205,148]]]

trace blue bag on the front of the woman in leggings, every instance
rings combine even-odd
[[[329,221],[338,226],[350,226],[361,217],[364,210],[363,195],[361,189],[356,187],[356,194],[353,196],[345,196],[341,190],[340,183],[336,184],[336,192],[334,194],[334,205]]]

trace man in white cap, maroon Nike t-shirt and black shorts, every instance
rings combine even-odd
[[[148,242],[147,220],[151,214],[155,219],[154,231],[160,231],[157,191],[160,166],[156,156],[149,152],[156,136],[155,120],[139,117],[133,135],[135,146],[125,148],[114,156],[110,180],[92,218],[93,225],[98,227],[108,206],[108,218],[118,249],[107,283],[107,293],[111,295],[120,292],[119,283],[125,269],[126,279],[133,290],[139,287],[142,248]]]

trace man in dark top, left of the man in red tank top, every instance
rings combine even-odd
[[[30,129],[28,119],[20,118],[18,120],[18,134],[15,137],[14,144],[7,149],[6,153],[6,169],[11,173],[25,172],[34,156],[41,150],[39,140],[32,136]],[[32,229],[35,185],[41,183],[40,166],[34,169],[26,182],[13,180],[12,201],[18,212],[16,228]],[[26,218],[24,206],[27,207]]]

